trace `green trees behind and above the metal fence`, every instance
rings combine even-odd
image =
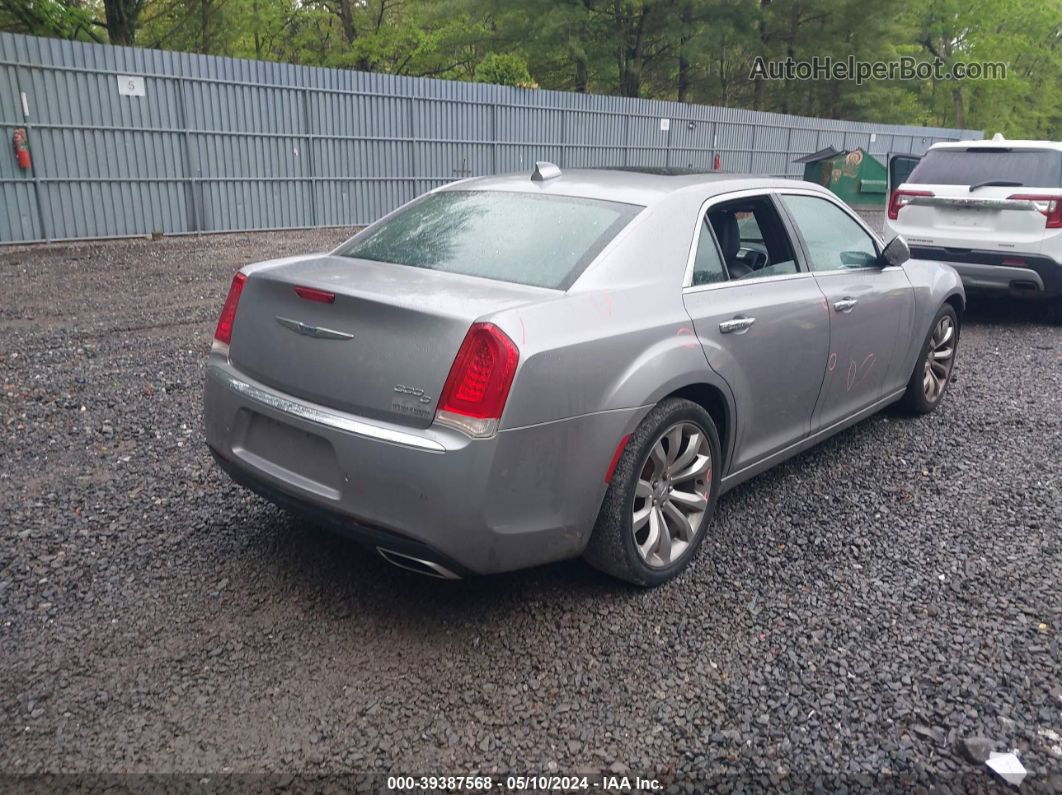
[[[395,74],[1062,137],[1062,0],[0,0],[0,30]],[[753,81],[757,56],[1006,80]]]

